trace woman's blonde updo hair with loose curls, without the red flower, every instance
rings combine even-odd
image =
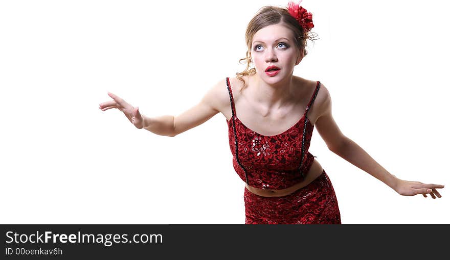
[[[250,53],[252,48],[253,36],[262,28],[272,24],[282,24],[290,29],[292,33],[294,33],[294,42],[297,49],[303,51],[303,57],[308,54],[308,52],[306,51],[306,40],[314,40],[312,36],[314,36],[315,33],[304,30],[299,22],[294,17],[292,17],[285,8],[276,6],[264,6],[260,8],[256,15],[252,18],[252,20],[250,20],[245,31],[245,43],[247,45],[247,52],[245,54],[245,58],[239,59],[239,63],[242,64],[241,61],[245,61],[247,65],[242,72],[236,73],[237,78],[244,83],[244,87],[245,80],[242,77],[245,75],[252,75],[256,73],[255,68],[250,68]]]

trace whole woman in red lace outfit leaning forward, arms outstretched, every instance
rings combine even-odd
[[[436,189],[443,185],[398,179],[376,163],[341,133],[327,88],[292,75],[307,54],[311,28],[311,13],[299,5],[263,7],[247,26],[246,69],[219,81],[197,106],[176,118],[150,118],[108,93],[113,100],[99,108],[117,108],[137,128],[171,137],[221,112],[229,126],[233,166],[245,181],[246,224],[341,223],[331,181],[308,151],[314,127],[331,151],[398,194],[441,197]]]

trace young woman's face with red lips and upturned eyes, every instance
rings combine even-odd
[[[267,82],[275,83],[292,75],[294,66],[303,58],[294,43],[293,33],[281,24],[260,29],[252,39],[251,59],[258,75]],[[268,66],[278,71],[268,71]]]

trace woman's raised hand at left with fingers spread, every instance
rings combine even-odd
[[[144,118],[139,112],[139,107],[134,108],[129,103],[125,102],[125,100],[111,92],[108,92],[108,96],[113,98],[113,100],[100,103],[99,109],[101,109],[102,111],[106,111],[111,108],[117,108],[125,114],[128,120],[130,120],[130,122],[134,126],[139,129],[144,127]]]

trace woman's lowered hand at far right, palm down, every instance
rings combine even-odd
[[[422,194],[426,198],[426,194],[430,193],[432,198],[442,197],[441,194],[436,189],[444,188],[443,185],[439,184],[423,184],[420,181],[409,181],[398,179],[395,191],[403,196],[414,196],[417,194]],[[436,195],[436,196],[435,196]]]

